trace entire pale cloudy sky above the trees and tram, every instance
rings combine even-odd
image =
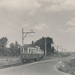
[[[0,0],[0,38],[22,45],[22,28],[35,32],[25,44],[49,36],[55,45],[75,51],[75,0]]]

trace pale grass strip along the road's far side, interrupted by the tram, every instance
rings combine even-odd
[[[69,54],[64,55],[64,54],[51,54],[50,56],[44,57],[41,61],[48,60],[48,59],[54,59],[54,58],[60,58],[60,57],[67,57],[70,56]],[[22,63],[20,56],[11,56],[11,57],[5,57],[5,56],[0,56],[0,69],[2,68],[7,68],[11,66],[19,66],[27,63]]]

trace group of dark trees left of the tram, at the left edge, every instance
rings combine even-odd
[[[6,47],[7,43],[8,39],[6,37],[0,39],[0,56],[19,56],[20,45],[18,42],[11,43],[9,48]]]

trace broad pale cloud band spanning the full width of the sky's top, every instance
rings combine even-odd
[[[46,12],[74,10],[75,0],[2,0],[0,2],[1,7],[10,10],[30,11],[29,14],[33,15],[37,9],[45,10]]]

